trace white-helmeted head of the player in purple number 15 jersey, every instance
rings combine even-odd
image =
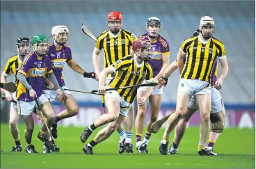
[[[58,45],[65,45],[67,43],[69,34],[70,31],[67,29],[67,26],[59,25],[54,26],[51,29],[51,35],[54,39],[54,42],[58,43]]]

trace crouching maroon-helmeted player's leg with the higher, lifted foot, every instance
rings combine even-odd
[[[91,124],[89,127],[86,127],[86,129],[83,130],[83,132],[80,135],[80,140],[82,143],[86,142],[90,134],[92,134],[93,131],[97,129],[97,127],[100,127],[104,124],[113,122],[118,119],[120,112],[120,98],[118,92],[106,92],[105,103],[109,113],[99,116],[99,118],[93,124]]]

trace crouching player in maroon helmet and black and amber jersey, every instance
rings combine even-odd
[[[151,79],[153,76],[152,68],[147,61],[150,60],[151,44],[149,40],[136,40],[132,48],[134,55],[122,58],[100,73],[99,77],[99,93],[105,93],[106,88],[121,88],[118,90],[107,91],[105,95],[106,107],[109,114],[101,115],[90,127],[85,129],[81,134],[84,142],[88,139],[97,127],[109,123],[104,129],[101,129],[97,136],[83,147],[83,152],[93,154],[93,147],[98,143],[109,138],[111,134],[118,128],[118,125],[125,120],[128,115],[129,108],[134,102],[137,95],[137,88],[122,88],[125,86],[134,86],[141,84],[143,80]],[[115,73],[113,80],[108,86],[104,86],[104,81],[108,74]],[[150,92],[146,92],[150,93]],[[149,96],[141,96],[137,98],[138,104],[145,104],[145,99]]]

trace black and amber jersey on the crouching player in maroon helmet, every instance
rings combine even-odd
[[[144,62],[138,64],[134,60],[134,56],[126,56],[115,63],[115,76],[109,82],[111,88],[121,88],[125,86],[134,86],[141,84],[143,80],[150,80],[153,77],[153,70],[149,63]],[[117,90],[120,97],[125,101],[132,103],[137,95],[137,88],[127,88]]]

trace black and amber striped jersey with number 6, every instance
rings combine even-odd
[[[216,38],[202,42],[200,36],[186,39],[179,49],[186,54],[181,78],[211,81],[211,74],[216,58],[226,57],[223,43]]]

